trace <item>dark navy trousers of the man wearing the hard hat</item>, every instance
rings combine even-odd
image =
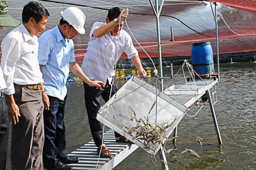
[[[63,151],[66,149],[64,109],[65,101],[57,97],[48,96],[50,101],[49,111],[44,110],[45,143],[43,162],[45,169],[53,169],[57,162],[67,157]]]

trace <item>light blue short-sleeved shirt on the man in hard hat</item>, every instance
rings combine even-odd
[[[74,42],[64,39],[58,26],[44,32],[39,38],[38,61],[43,73],[45,92],[64,100],[69,62],[75,61]]]

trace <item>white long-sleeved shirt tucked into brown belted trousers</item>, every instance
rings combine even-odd
[[[5,94],[15,93],[14,84],[32,85],[43,82],[38,64],[37,36],[31,36],[21,24],[9,32],[1,43]]]

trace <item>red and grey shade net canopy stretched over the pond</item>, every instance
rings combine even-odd
[[[9,13],[15,19],[21,20],[23,6],[30,0],[8,0]],[[134,35],[150,57],[158,57],[156,17],[149,0],[39,0],[50,12],[46,30],[55,27],[61,16],[60,12],[70,6],[79,7],[86,15],[84,28],[86,34],[74,38],[75,57],[82,61],[89,41],[89,32],[94,22],[105,22],[108,9],[121,7],[129,9],[127,24],[123,29]],[[155,7],[155,1],[152,1]],[[217,2],[217,21],[219,36],[219,53],[238,53],[255,51],[256,49],[256,1],[251,0],[215,0]],[[159,0],[159,7],[162,1]],[[213,12],[213,2],[199,0],[165,0],[161,10],[160,35],[162,56],[189,56],[192,42],[210,41],[213,53],[216,54],[216,31]],[[131,32],[128,30],[130,28]],[[0,40],[12,28],[1,30]],[[139,56],[147,57],[146,53],[136,43]],[[121,58],[127,58],[123,54]]]

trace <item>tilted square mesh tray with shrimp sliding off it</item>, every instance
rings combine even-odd
[[[97,119],[155,155],[187,108],[133,76],[99,110]]]

